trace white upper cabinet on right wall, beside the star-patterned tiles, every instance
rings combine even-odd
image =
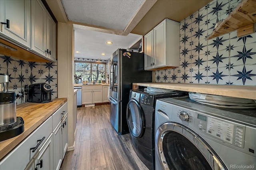
[[[145,70],[173,68],[180,65],[179,29],[178,22],[165,19],[145,35]]]

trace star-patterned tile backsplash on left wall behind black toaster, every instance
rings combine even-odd
[[[24,102],[24,85],[46,82],[52,86],[52,99],[58,97],[57,93],[57,62],[40,63],[28,62],[0,55],[0,73],[9,76],[8,91],[16,91],[22,96],[17,98],[16,103]]]

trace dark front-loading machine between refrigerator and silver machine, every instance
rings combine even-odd
[[[178,96],[188,96],[188,92],[170,90],[168,92],[148,92],[144,89],[130,90],[126,117],[130,139],[134,151],[150,169],[155,169],[154,118],[156,100]]]

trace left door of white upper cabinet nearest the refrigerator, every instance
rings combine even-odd
[[[153,68],[153,30],[144,36],[145,70]]]

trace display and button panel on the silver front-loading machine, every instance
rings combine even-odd
[[[245,126],[202,113],[196,113],[195,124],[204,135],[244,148]]]

